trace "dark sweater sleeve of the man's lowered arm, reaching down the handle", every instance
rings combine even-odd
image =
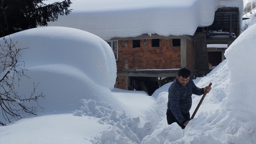
[[[179,108],[179,100],[180,100],[180,91],[178,89],[169,88],[169,101],[170,101],[170,110],[175,116],[175,118],[181,123],[184,124],[186,119],[180,112]]]

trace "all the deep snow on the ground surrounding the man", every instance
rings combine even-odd
[[[38,100],[44,109],[37,108],[37,116],[24,114],[22,119],[12,119],[12,123],[0,127],[1,143],[254,144],[254,31],[252,17],[249,28],[225,51],[227,59],[206,76],[194,79],[200,88],[212,83],[212,90],[184,130],[166,122],[171,83],[152,96],[114,88],[115,57],[100,37],[59,26],[12,34],[16,47],[30,47],[21,51],[18,59],[25,61],[24,69],[31,79],[22,78],[17,92],[30,94],[33,83],[39,82],[36,94],[46,96]],[[191,114],[200,99],[192,95]]]

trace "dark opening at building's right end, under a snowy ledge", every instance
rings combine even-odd
[[[217,66],[222,61],[221,51],[208,51],[208,62],[210,66]]]

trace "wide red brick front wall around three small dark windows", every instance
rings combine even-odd
[[[172,39],[160,39],[159,47],[151,47],[147,39],[133,48],[132,40],[119,40],[117,70],[125,70],[126,58],[129,70],[180,68],[180,46],[173,47]]]

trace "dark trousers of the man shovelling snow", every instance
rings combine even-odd
[[[183,115],[183,117],[186,119],[186,120],[190,120],[190,113],[181,113]],[[174,122],[177,122],[177,124],[182,128],[184,129],[185,126],[183,124],[181,124],[180,122],[178,122],[178,120],[175,118],[175,116],[172,114],[170,108],[167,108],[167,112],[166,112],[166,118],[167,118],[167,123],[170,125]]]

